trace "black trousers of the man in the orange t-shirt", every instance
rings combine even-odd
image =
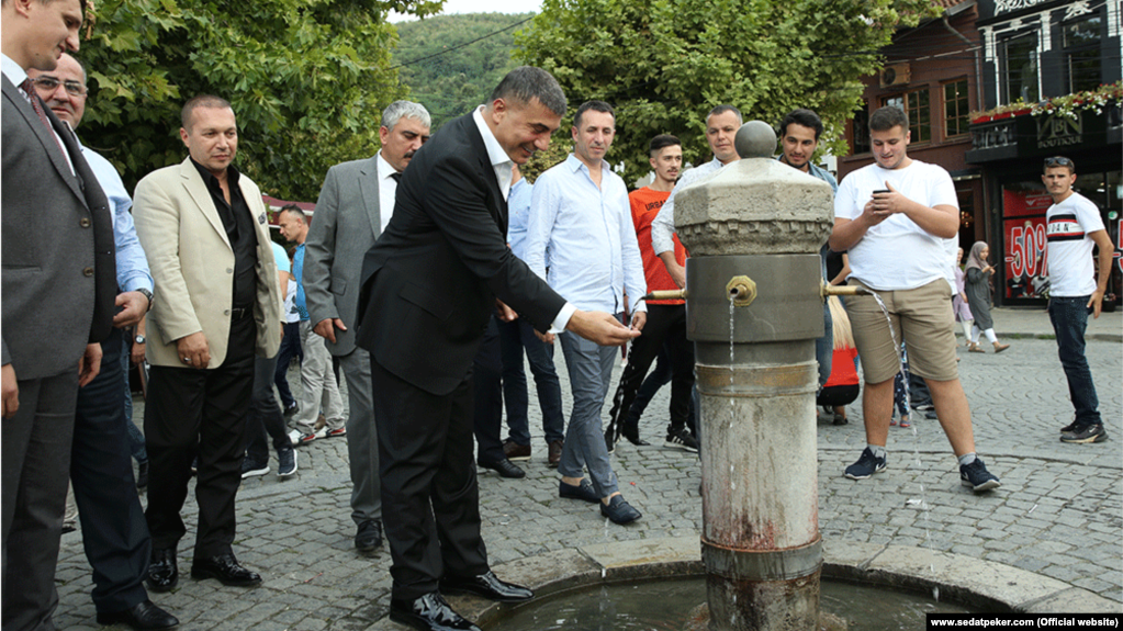
[[[691,426],[691,388],[694,387],[694,345],[686,339],[686,307],[682,304],[649,304],[643,335],[632,341],[628,366],[620,376],[620,385],[612,397],[609,412],[611,428],[622,423],[631,409],[636,393],[643,383],[647,369],[659,355],[664,342],[670,353],[670,429]]]

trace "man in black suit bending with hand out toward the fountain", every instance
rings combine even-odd
[[[548,147],[565,111],[549,73],[511,71],[486,106],[417,153],[363,263],[357,341],[372,359],[390,618],[417,629],[477,629],[441,592],[533,596],[491,573],[480,536],[472,359],[491,313],[518,312],[539,331],[553,326],[601,345],[639,335],[608,313],[576,310],[506,247],[511,165]]]

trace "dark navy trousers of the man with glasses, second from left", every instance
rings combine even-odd
[[[93,604],[113,613],[148,598],[150,538],[133,478],[125,417],[125,337],[113,329],[101,342],[101,372],[77,393],[71,484],[82,546],[93,568]]]

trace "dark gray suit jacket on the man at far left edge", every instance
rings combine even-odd
[[[85,345],[112,328],[112,216],[74,135],[43,106],[72,174],[2,74],[0,92],[0,365],[10,363],[21,381],[49,377],[76,371]]]

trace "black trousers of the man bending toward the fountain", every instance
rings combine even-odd
[[[378,429],[382,515],[390,545],[391,597],[437,591],[448,573],[487,571],[480,534],[480,488],[472,459],[472,379],[438,396],[371,356]]]

